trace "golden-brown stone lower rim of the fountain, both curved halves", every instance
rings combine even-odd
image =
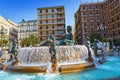
[[[74,64],[59,64],[58,68],[55,72],[52,73],[73,73],[85,70],[86,68],[94,67],[94,63],[92,62],[82,62],[82,63],[74,63]],[[46,73],[47,66],[21,66],[21,65],[6,65],[3,64],[3,69],[14,72],[22,72],[22,73]]]

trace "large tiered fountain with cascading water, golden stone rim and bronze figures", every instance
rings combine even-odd
[[[68,26],[68,34],[60,42],[53,35],[46,41],[49,46],[20,48],[16,60],[3,64],[4,70],[29,73],[70,73],[95,66],[94,53],[87,45],[73,45],[72,28]],[[58,39],[59,40],[59,39]],[[59,46],[63,45],[64,46]],[[98,62],[99,60],[97,60]]]

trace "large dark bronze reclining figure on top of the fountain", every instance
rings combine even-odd
[[[67,26],[67,32],[68,34],[66,34],[64,37],[57,39],[60,41],[59,45],[73,45],[74,44],[71,26]]]

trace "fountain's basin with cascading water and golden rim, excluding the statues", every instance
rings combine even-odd
[[[71,73],[94,67],[94,62],[86,61],[87,58],[88,49],[85,45],[57,46],[57,62],[50,65],[49,47],[25,47],[18,54],[20,64],[8,62],[3,69],[27,73]]]

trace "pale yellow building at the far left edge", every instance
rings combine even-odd
[[[17,24],[9,19],[5,19],[0,16],[0,33],[1,29],[4,28],[4,34],[1,36],[0,34],[0,41],[6,40],[8,42],[12,41],[13,39],[17,40]],[[8,44],[7,44],[8,45]],[[5,44],[1,44],[0,47],[5,47]]]

